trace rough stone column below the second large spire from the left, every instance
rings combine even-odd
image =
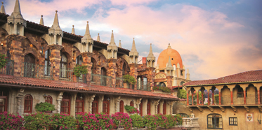
[[[53,66],[53,80],[59,80],[60,75],[60,50],[64,47],[63,45],[48,45],[47,46],[51,51],[50,63]],[[52,73],[52,72],[51,72]]]

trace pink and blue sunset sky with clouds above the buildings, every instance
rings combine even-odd
[[[11,15],[15,0],[5,0]],[[63,31],[84,35],[89,21],[94,40],[114,40],[131,50],[133,37],[139,59],[150,43],[157,58],[168,44],[177,50],[191,80],[220,78],[262,69],[261,0],[20,0],[25,20],[51,27],[55,10]],[[140,62],[141,63],[141,62]]]

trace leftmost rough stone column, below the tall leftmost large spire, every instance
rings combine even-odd
[[[24,41],[25,38],[25,36],[19,36],[15,34],[7,36],[8,43],[11,43],[10,54],[11,60],[14,61],[13,75],[15,76],[21,76],[22,63],[24,62],[24,57],[22,57],[22,41]]]

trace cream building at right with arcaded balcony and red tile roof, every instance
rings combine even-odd
[[[199,118],[199,129],[262,129],[261,70],[184,85],[188,110]]]

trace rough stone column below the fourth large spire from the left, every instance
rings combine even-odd
[[[108,76],[111,76],[112,77],[112,85],[111,87],[115,87],[115,84],[116,84],[116,73],[117,73],[117,59],[114,59],[114,58],[111,58],[111,59],[108,59],[108,73],[107,75]]]

